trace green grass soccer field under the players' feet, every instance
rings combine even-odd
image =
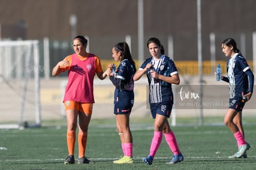
[[[41,128],[0,130],[0,147],[7,148],[0,150],[0,169],[255,169],[256,125],[246,123],[250,121],[252,119],[245,120],[244,124],[246,139],[251,145],[247,159],[228,159],[237,147],[233,134],[224,125],[179,125],[173,127],[173,131],[184,161],[166,164],[173,155],[163,137],[151,166],[142,163],[153,135],[151,119],[132,120],[134,164],[112,163],[122,156],[114,119],[93,119],[90,123],[86,156],[96,161],[95,164],[63,163],[67,156],[65,120],[49,121]],[[77,152],[76,143],[75,158]]]

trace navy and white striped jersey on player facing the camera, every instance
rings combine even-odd
[[[168,56],[162,55],[157,61],[150,57],[146,59],[139,70],[144,69],[148,63],[153,64],[153,67],[158,74],[164,75],[164,72],[169,67],[168,76],[171,77],[174,74],[178,74],[177,68]],[[173,91],[171,89],[171,83],[167,83],[160,80],[154,80],[150,76],[150,71],[147,72],[148,83],[149,83],[149,99],[150,103],[161,103],[163,101],[170,101],[173,103]]]

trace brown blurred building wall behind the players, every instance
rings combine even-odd
[[[202,59],[210,59],[210,33],[216,35],[216,47],[229,36],[236,39],[242,53],[252,59],[252,33],[256,31],[256,1],[202,0]],[[156,36],[167,48],[173,36],[176,61],[197,60],[197,0],[144,0],[144,42]],[[90,52],[101,59],[111,58],[111,47],[131,36],[132,54],[138,58],[138,1],[128,0],[1,0],[1,38],[18,38],[6,32],[6,25],[25,29],[22,39],[70,41],[70,15],[77,17],[75,34],[90,38]],[[19,26],[19,27],[18,27]],[[74,33],[74,30],[73,30]],[[145,57],[148,56],[144,47]],[[64,54],[63,54],[64,55]],[[59,57],[53,56],[58,61]],[[216,49],[216,59],[223,59]]]

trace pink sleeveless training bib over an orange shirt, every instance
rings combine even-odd
[[[77,54],[72,54],[72,63],[69,69],[69,80],[63,101],[79,103],[95,103],[93,96],[93,79],[95,76],[95,55],[81,61]]]

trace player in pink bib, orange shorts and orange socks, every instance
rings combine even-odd
[[[65,57],[53,68],[53,76],[68,70],[68,82],[64,95],[64,106],[67,117],[67,148],[69,156],[65,164],[74,164],[75,131],[77,129],[77,118],[79,119],[79,159],[78,163],[94,163],[85,157],[87,146],[88,125],[92,116],[94,103],[93,79],[95,73],[99,79],[106,77],[103,73],[100,59],[95,54],[87,53],[87,39],[76,36],[73,40],[75,53]]]

